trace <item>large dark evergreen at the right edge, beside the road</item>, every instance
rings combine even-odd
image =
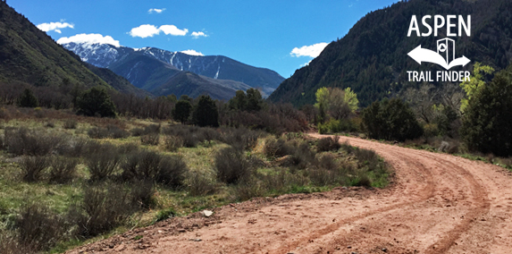
[[[469,98],[461,135],[469,148],[512,156],[512,65]]]

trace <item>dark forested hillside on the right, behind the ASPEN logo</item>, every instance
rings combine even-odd
[[[420,66],[407,53],[419,45],[435,48],[446,30],[438,37],[407,38],[412,15],[472,15],[471,37],[454,38],[457,55],[466,55],[471,63],[457,71],[471,70],[475,62],[503,69],[512,57],[512,13],[506,10],[512,10],[511,1],[413,0],[368,13],[344,38],[284,80],[269,99],[302,106],[315,103],[315,91],[321,87],[350,87],[360,106],[368,106],[419,85],[407,81],[407,71],[441,69],[430,63]]]

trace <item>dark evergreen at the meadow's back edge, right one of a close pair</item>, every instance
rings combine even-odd
[[[210,96],[200,96],[193,114],[194,123],[201,127],[219,127],[219,112]]]

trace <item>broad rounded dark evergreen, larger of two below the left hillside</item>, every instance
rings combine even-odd
[[[88,89],[77,100],[78,114],[100,117],[115,117],[115,106],[105,89]]]

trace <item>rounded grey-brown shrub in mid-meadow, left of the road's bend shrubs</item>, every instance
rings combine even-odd
[[[251,162],[237,148],[222,148],[214,157],[214,165],[217,179],[228,184],[248,179],[253,172]]]

